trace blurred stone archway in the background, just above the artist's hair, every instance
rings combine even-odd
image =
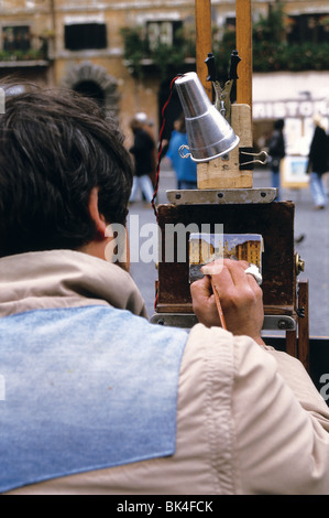
[[[61,86],[92,97],[109,115],[118,119],[118,84],[102,66],[89,61],[79,63],[64,76]]]

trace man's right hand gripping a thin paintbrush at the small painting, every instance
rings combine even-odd
[[[220,267],[213,262],[204,268],[205,273],[211,273],[228,331],[234,335],[251,336],[264,345],[261,338],[263,292],[255,279],[244,272],[248,267],[246,261],[224,259]],[[209,274],[190,285],[194,312],[198,321],[208,327],[220,325]]]

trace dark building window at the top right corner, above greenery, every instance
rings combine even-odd
[[[329,13],[288,17],[288,43],[329,43]]]

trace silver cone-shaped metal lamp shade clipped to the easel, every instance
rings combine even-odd
[[[191,160],[209,162],[234,149],[240,139],[210,102],[197,74],[184,74],[175,86],[185,115]]]

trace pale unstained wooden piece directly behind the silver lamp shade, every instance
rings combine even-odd
[[[231,106],[231,126],[238,137],[239,145],[233,149],[228,159],[219,158],[197,166],[198,188],[250,188],[253,182],[253,171],[240,171],[239,153],[241,148],[252,148],[251,109],[248,105]],[[250,157],[250,160],[253,158]]]

